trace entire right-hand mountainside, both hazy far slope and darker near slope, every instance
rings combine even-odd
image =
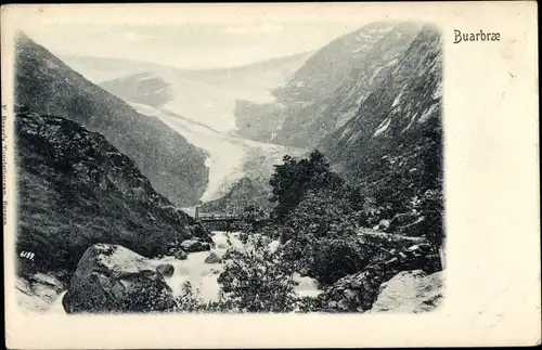
[[[319,148],[380,219],[414,210],[441,230],[441,47],[429,25],[370,24],[318,51],[274,104],[240,103],[237,133]]]

